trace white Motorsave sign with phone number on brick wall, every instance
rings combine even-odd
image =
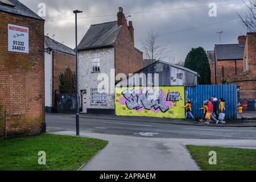
[[[8,51],[28,53],[28,37],[27,27],[8,24]]]

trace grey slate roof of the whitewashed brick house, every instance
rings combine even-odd
[[[117,21],[93,24],[79,43],[78,50],[113,47],[122,26]]]

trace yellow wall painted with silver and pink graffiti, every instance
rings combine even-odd
[[[184,92],[184,86],[115,88],[115,114],[181,119]]]

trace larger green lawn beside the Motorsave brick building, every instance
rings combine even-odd
[[[100,139],[53,134],[0,140],[0,170],[77,170],[106,144],[108,142]],[[38,164],[39,151],[46,152],[45,166]]]

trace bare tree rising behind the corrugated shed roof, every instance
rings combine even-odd
[[[168,51],[167,46],[169,43],[167,43],[165,46],[158,46],[156,41],[159,38],[158,32],[154,32],[151,30],[148,32],[148,36],[146,39],[141,40],[142,42],[142,49],[144,53],[144,59],[149,60],[160,60],[164,59],[167,55]]]

